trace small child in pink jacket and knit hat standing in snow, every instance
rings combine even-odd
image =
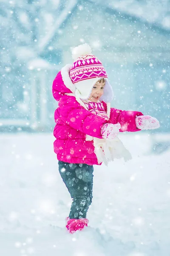
[[[73,199],[66,227],[70,233],[88,226],[86,213],[92,202],[93,165],[114,158],[130,159],[118,139],[119,131],[159,128],[159,121],[138,111],[110,107],[113,90],[102,63],[88,44],[74,48],[74,63],[67,64],[53,82],[59,102],[54,118],[54,152],[59,173]]]

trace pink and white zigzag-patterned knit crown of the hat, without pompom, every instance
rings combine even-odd
[[[91,54],[77,58],[71,66],[69,75],[73,84],[96,77],[108,78],[102,63],[96,56]]]

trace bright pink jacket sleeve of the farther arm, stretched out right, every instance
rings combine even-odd
[[[125,111],[111,108],[110,121],[113,124],[120,123],[121,129],[119,131],[141,131],[136,127],[136,116],[143,116],[139,111]]]

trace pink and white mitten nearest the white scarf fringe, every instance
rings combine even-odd
[[[104,124],[101,129],[101,134],[104,139],[113,140],[119,133],[120,124]]]

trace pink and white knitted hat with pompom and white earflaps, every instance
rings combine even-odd
[[[111,102],[113,90],[109,84],[108,75],[101,61],[91,53],[91,47],[88,44],[75,47],[72,51],[72,57],[74,63],[71,66],[69,76],[76,87],[76,96],[80,99],[88,99],[96,81],[104,78],[104,93],[100,100]]]

